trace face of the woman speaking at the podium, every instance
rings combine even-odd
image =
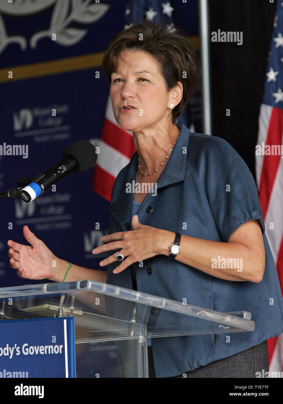
[[[128,51],[117,59],[117,72],[111,75],[110,97],[115,120],[124,130],[143,131],[168,123],[171,110],[159,63],[147,52]],[[134,109],[125,111],[124,105]],[[170,118],[171,122],[171,118]]]

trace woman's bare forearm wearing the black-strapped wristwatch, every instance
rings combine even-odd
[[[160,254],[169,255],[169,246],[175,233],[161,230]],[[233,281],[260,282],[262,265],[258,257],[244,244],[238,242],[217,242],[200,238],[181,236],[181,250],[175,260],[197,268],[216,278]],[[258,268],[259,267],[259,268]]]

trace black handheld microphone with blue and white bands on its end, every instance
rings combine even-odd
[[[63,152],[63,160],[51,167],[46,173],[38,174],[31,183],[19,191],[24,202],[31,202],[46,192],[52,185],[70,173],[83,173],[96,162],[95,147],[87,140],[77,140]]]

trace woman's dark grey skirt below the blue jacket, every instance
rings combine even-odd
[[[149,377],[155,377],[152,348],[148,347],[148,369]],[[178,378],[186,377],[256,377],[256,372],[262,374],[268,372],[268,347],[267,341],[255,345],[254,347],[245,349],[236,353],[228,358],[216,360],[215,362],[208,363],[191,372],[183,373],[182,375],[172,376]]]

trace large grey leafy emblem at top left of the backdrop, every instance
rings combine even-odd
[[[50,38],[62,46],[74,45],[86,34],[88,29],[73,28],[71,23],[90,24],[103,17],[109,4],[101,4],[99,0],[0,0],[0,53],[11,43],[19,44],[21,50],[27,48],[24,36],[9,36],[1,13],[25,17],[52,6],[52,16],[47,30],[36,32],[29,39],[29,46],[36,48],[42,38]]]

